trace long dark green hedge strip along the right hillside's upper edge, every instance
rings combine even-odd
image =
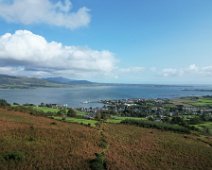
[[[121,121],[122,124],[129,124],[129,125],[136,125],[145,128],[155,128],[161,130],[169,130],[173,132],[180,132],[180,133],[190,133],[189,129],[179,126],[173,125],[168,123],[162,122],[153,122],[153,121],[144,121],[144,120],[133,120],[133,119],[126,119]]]

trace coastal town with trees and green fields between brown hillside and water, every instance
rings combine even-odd
[[[1,103],[7,103],[6,101]],[[212,96],[175,99],[101,100],[102,107],[72,108],[67,104],[8,104],[10,109],[55,120],[95,127],[99,121],[123,123],[126,120],[179,125],[192,131],[212,135]],[[88,105],[86,105],[88,106]]]

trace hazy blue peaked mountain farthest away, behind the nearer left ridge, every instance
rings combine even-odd
[[[44,80],[52,83],[57,84],[93,84],[93,82],[87,81],[87,80],[74,80],[74,79],[67,79],[64,77],[48,77],[44,78]]]

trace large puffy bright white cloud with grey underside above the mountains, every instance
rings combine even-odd
[[[27,30],[0,36],[0,66],[22,67],[31,72],[109,74],[115,62],[110,51],[48,42],[44,37]]]

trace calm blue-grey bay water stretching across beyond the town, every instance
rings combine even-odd
[[[186,90],[185,89],[189,89]],[[57,103],[71,107],[101,106],[97,101],[103,99],[127,98],[176,98],[182,96],[212,95],[212,91],[192,89],[212,89],[209,86],[152,86],[152,85],[114,85],[72,88],[0,89],[0,98],[13,103]],[[92,103],[83,104],[84,101]]]

